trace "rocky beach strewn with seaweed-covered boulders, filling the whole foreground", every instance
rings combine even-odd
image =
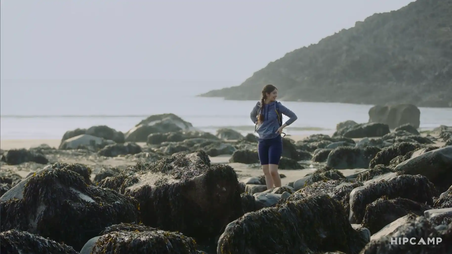
[[[283,138],[267,189],[257,138],[174,114],[1,151],[1,253],[451,253],[452,127],[338,124]],[[393,245],[438,237],[438,245]]]

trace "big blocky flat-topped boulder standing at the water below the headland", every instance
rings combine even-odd
[[[419,108],[412,104],[376,105],[369,109],[369,122],[380,122],[389,125],[391,129],[403,124],[419,128]]]

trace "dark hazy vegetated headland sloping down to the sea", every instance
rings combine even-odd
[[[270,62],[241,85],[201,96],[452,107],[452,1],[417,0],[374,14]]]

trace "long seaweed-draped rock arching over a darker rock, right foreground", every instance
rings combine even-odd
[[[396,175],[388,180],[372,182],[353,189],[350,193],[350,223],[363,220],[366,206],[378,198],[407,198],[419,203],[433,205],[436,195],[433,183],[422,175]]]

